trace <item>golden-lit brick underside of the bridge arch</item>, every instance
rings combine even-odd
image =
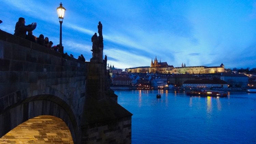
[[[0,138],[0,143],[69,143],[72,136],[60,118],[42,115],[18,125]]]

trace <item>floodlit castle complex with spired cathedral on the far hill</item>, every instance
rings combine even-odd
[[[151,60],[150,67],[136,67],[136,68],[128,68],[125,69],[126,72],[132,73],[181,73],[181,74],[206,74],[206,73],[220,73],[225,72],[224,64],[221,63],[220,66],[216,67],[206,67],[206,66],[193,66],[186,67],[186,64],[182,63],[181,67],[173,67],[168,65],[167,62],[158,62],[157,58]]]

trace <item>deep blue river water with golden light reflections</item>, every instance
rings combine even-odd
[[[156,99],[156,94],[161,94]],[[115,90],[132,116],[132,143],[256,143],[256,93],[226,98],[168,90]]]

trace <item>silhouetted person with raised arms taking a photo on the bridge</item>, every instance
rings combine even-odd
[[[25,39],[27,31],[33,31],[37,27],[37,23],[32,23],[31,25],[27,26],[25,26],[25,23],[25,18],[20,17],[15,25],[14,35],[17,35]]]

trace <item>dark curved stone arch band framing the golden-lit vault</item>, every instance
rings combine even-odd
[[[73,142],[80,140],[81,132],[71,106],[60,97],[49,94],[31,96],[4,109],[0,113],[0,137],[25,121],[41,115],[60,118],[68,126]]]

